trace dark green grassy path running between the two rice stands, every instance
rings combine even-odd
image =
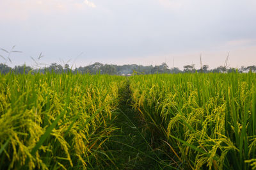
[[[109,141],[109,150],[115,159],[113,169],[170,169],[161,162],[163,153],[153,150],[150,141],[151,136],[147,133],[143,121],[138,113],[134,112],[130,104],[129,82],[124,89],[120,89],[122,98],[115,127],[119,129]]]

